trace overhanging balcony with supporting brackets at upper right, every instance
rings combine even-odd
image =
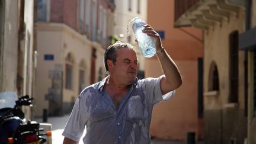
[[[174,27],[193,26],[208,31],[215,24],[229,21],[231,15],[239,16],[245,10],[244,0],[175,0]]]

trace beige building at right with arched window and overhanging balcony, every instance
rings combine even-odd
[[[203,30],[204,143],[251,139],[246,140],[248,56],[238,49],[245,31],[245,2],[175,1],[175,27]]]

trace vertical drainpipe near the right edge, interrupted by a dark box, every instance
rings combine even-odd
[[[245,21],[245,31],[249,30],[251,28],[251,0],[247,0],[246,3],[246,21]],[[247,82],[245,87],[245,94],[248,94],[248,117],[247,117],[247,144],[253,144],[252,140],[252,112],[253,112],[253,93],[252,93],[252,76],[253,76],[253,69],[252,69],[252,56],[253,53],[245,50],[245,63],[248,63],[247,65],[247,72],[248,78],[245,79]],[[248,85],[249,83],[249,85]],[[248,87],[249,86],[249,87]]]

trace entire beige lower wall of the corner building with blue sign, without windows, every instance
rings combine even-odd
[[[49,72],[55,69],[56,64],[62,65],[63,71],[63,103],[72,103],[79,94],[79,63],[85,61],[85,81],[89,85],[91,76],[91,50],[99,48],[99,44],[93,44],[86,37],[81,36],[65,24],[37,23],[37,49],[39,53],[37,66],[37,98],[34,108],[35,116],[41,116],[43,108],[49,108],[49,101],[45,100],[48,88],[52,85]],[[97,50],[98,62],[96,71],[103,62],[103,50]],[[71,53],[74,60],[72,89],[65,88],[65,58]],[[54,60],[44,60],[45,54],[53,54]],[[102,64],[102,63],[101,63]],[[103,66],[103,65],[101,65]],[[65,105],[63,105],[65,107]]]

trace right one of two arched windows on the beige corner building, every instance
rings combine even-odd
[[[79,88],[78,88],[78,92],[81,92],[82,89],[85,88],[85,72],[86,72],[86,68],[85,68],[85,62],[84,60],[82,60],[80,62],[79,65]]]

